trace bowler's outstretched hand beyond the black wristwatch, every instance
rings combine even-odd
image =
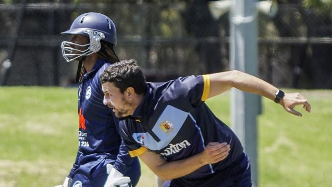
[[[282,105],[286,111],[300,117],[302,114],[294,109],[295,106],[303,105],[303,108],[307,112],[311,111],[309,101],[299,93],[285,93],[284,97],[280,100],[280,105]]]

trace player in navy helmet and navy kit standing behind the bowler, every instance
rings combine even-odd
[[[140,177],[137,158],[130,157],[118,132],[118,120],[103,104],[100,75],[119,59],[114,52],[116,29],[113,21],[100,13],[78,16],[69,30],[70,41],[61,43],[67,62],[79,61],[78,151],[63,187],[135,186]]]

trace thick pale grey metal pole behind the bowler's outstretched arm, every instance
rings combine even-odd
[[[257,76],[256,0],[233,0],[230,12],[231,69]],[[231,123],[251,160],[253,186],[258,186],[256,115],[260,97],[233,88]]]

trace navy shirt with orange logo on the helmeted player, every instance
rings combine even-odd
[[[99,59],[92,70],[85,73],[79,85],[79,150],[73,169],[68,175],[70,178],[73,178],[82,162],[97,161],[105,158],[105,155],[108,161],[112,160],[114,168],[123,174],[133,162],[118,133],[118,120],[112,110],[103,104],[100,75],[109,65],[109,62]]]

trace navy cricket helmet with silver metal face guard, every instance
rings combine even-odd
[[[61,43],[62,55],[67,62],[75,60],[80,56],[88,56],[101,49],[100,40],[105,40],[116,46],[116,29],[113,21],[104,14],[88,12],[78,16],[70,29],[61,34],[80,34],[90,38],[90,43],[80,45],[73,42],[63,41]],[[81,51],[73,48],[74,45],[86,46],[86,50]],[[78,51],[80,54],[72,54]]]

